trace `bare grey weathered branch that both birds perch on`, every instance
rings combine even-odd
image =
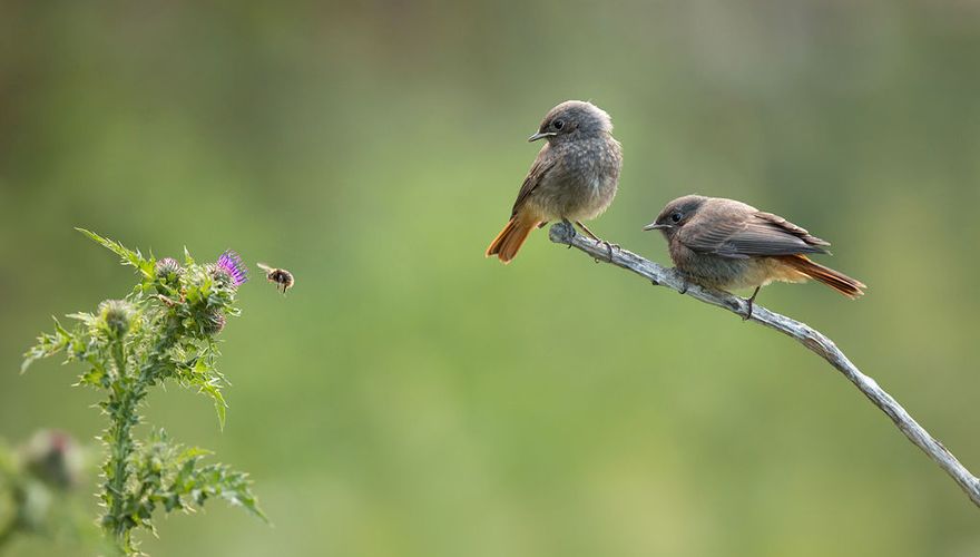
[[[688,283],[684,276],[674,268],[665,268],[651,261],[626,250],[610,250],[606,244],[595,240],[587,238],[575,232],[570,225],[558,223],[551,226],[549,232],[551,242],[565,244],[575,247],[586,254],[605,263],[611,263],[618,267],[631,271],[644,278],[650,281],[655,285],[666,286],[682,294],[687,294],[695,300],[704,303],[716,305],[728,310],[736,315],[745,317],[748,313],[748,303],[726,292],[719,292],[710,289]],[[611,253],[610,253],[611,252]],[[851,360],[823,333],[816,331],[805,323],[786,317],[775,312],[771,312],[765,307],[754,304],[752,307],[751,321],[755,321],[770,329],[774,329],[786,336],[790,336],[817,355],[827,361],[854,383],[874,405],[888,414],[902,433],[912,441],[913,444],[922,449],[940,468],[945,470],[953,481],[955,481],[970,500],[980,507],[980,479],[974,477],[960,463],[957,458],[947,450],[939,441],[933,439],[925,429],[919,424],[909,412],[902,408],[899,402],[879,387],[870,377],[861,373]]]

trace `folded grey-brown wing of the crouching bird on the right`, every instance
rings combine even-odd
[[[778,215],[762,212],[710,228],[688,225],[683,232],[687,234],[680,240],[690,250],[732,258],[827,253],[824,246],[830,245]]]

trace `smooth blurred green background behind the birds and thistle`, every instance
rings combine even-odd
[[[833,242],[864,299],[761,303],[980,469],[978,60],[968,0],[4,0],[0,437],[102,427],[79,368],[18,375],[50,315],[134,281],[85,226],[296,276],[243,289],[224,432],[178,389],[148,409],[275,526],[214,502],[153,555],[980,555],[973,505],[800,345],[546,232],[483,258],[525,138],[591,99],[625,149],[592,229],[666,262],[639,228],[698,192]]]

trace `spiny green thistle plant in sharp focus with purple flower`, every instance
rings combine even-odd
[[[22,370],[35,361],[63,352],[85,367],[78,384],[101,391],[99,408],[108,419],[100,436],[107,457],[101,467],[99,519],[109,545],[120,555],[139,555],[133,531],[156,534],[154,511],[190,511],[208,499],[225,499],[265,520],[247,476],[224,465],[203,463],[207,451],[184,448],[163,429],[145,440],[135,429],[149,390],[173,382],[210,398],[222,428],[225,423],[224,375],[216,367],[216,336],[228,316],[237,316],[238,286],[247,281],[234,252],[213,264],[144,257],[89,231],[81,233],[136,268],[138,284],[121,300],[107,300],[92,313],[68,315],[76,323],[42,334],[24,354]]]

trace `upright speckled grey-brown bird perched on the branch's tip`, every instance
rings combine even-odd
[[[487,257],[497,255],[509,263],[531,231],[548,221],[571,221],[599,241],[581,222],[599,216],[616,196],[623,155],[611,133],[609,115],[591,102],[568,100],[552,108],[538,133],[528,138],[548,141],[517,194],[510,221],[487,248]]]

